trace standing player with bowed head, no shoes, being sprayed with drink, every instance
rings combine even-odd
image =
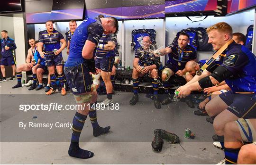
[[[79,147],[79,137],[83,124],[90,116],[93,136],[107,133],[110,126],[102,128],[97,122],[97,91],[92,86],[92,74],[98,74],[94,63],[94,54],[102,34],[117,33],[118,21],[113,17],[88,18],[75,30],[70,43],[68,59],[64,66],[64,73],[75,101],[84,108],[77,110],[73,118],[72,137],[68,154],[72,157],[90,158],[93,153]],[[103,48],[104,45],[102,45]],[[93,106],[93,107],[91,107]]]

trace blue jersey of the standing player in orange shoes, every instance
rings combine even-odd
[[[45,51],[46,55],[55,55],[54,49],[60,49],[60,40],[64,39],[63,35],[53,30],[52,33],[48,33],[47,30],[39,32],[39,42],[42,42],[45,44]],[[59,56],[62,55],[62,53],[58,54]]]

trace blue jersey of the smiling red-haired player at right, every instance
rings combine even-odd
[[[245,46],[235,42],[232,42],[222,54],[224,54],[224,58],[221,58],[217,63],[221,63],[220,66],[233,73],[232,77],[225,79],[229,88],[235,92],[256,93],[255,55]],[[215,61],[212,62],[210,66],[215,65],[215,63]],[[214,67],[208,66],[206,69],[211,73],[214,71]]]

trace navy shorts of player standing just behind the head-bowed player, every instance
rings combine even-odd
[[[111,72],[115,62],[115,57],[96,58],[95,67],[104,72]]]

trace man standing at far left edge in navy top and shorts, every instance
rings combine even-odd
[[[12,67],[12,77],[9,81],[15,80],[15,72],[16,72],[16,60],[14,57],[14,50],[17,48],[15,41],[8,36],[8,32],[6,30],[1,31],[1,55],[2,58],[0,60],[2,78],[0,78],[0,82],[7,81],[5,77],[5,66]]]

